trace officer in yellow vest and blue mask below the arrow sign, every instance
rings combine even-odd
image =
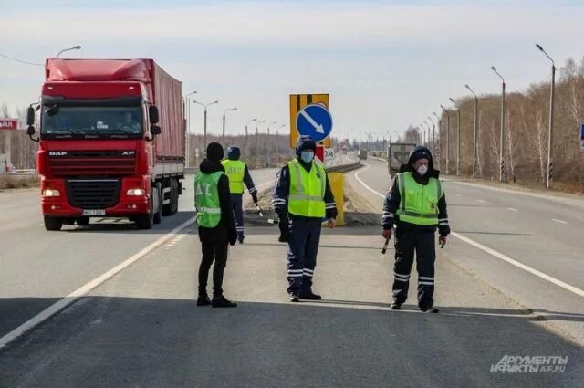
[[[312,291],[323,220],[335,226],[337,206],[325,169],[314,162],[317,144],[309,136],[298,139],[297,158],[278,174],[272,204],[280,220],[288,220],[287,279],[291,302],[319,300]]]

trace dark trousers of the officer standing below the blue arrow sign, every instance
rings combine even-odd
[[[312,276],[317,266],[320,243],[320,218],[288,217],[288,294],[307,293],[312,288]]]

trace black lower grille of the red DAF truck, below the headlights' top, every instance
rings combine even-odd
[[[118,204],[119,179],[68,179],[68,200],[81,209],[105,209]]]

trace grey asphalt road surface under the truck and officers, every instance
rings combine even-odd
[[[369,202],[360,210],[379,214],[389,177],[367,164],[346,180]],[[264,177],[256,183],[274,172]],[[0,350],[0,387],[584,386],[583,243],[571,238],[581,202],[444,185],[456,235],[436,263],[440,314],[416,309],[415,275],[405,309],[389,310],[393,250],[381,257],[379,226],[326,230],[324,299],[299,304],[287,302],[277,228],[248,227],[225,273],[240,306],[197,308],[200,244],[193,226],[176,229],[192,216],[188,192],[160,229],[60,233],[39,225],[35,194],[2,194],[3,332],[126,267]],[[545,365],[502,372],[526,362]]]

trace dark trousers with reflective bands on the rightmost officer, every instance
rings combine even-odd
[[[434,303],[436,251],[435,232],[431,230],[409,230],[397,226],[395,230],[393,300],[403,304],[408,298],[414,251],[418,270],[418,306],[427,309]]]

